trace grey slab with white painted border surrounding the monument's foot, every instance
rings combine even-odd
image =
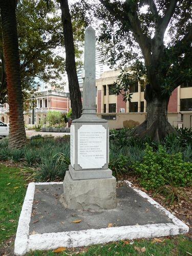
[[[15,254],[188,232],[182,221],[131,186],[129,182],[118,185],[115,209],[84,211],[63,207],[59,201],[62,182],[30,183],[19,218]],[[81,221],[73,223],[77,220]]]

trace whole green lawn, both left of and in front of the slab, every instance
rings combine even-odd
[[[5,167],[0,164],[0,247],[12,237],[17,228],[18,218],[26,193],[26,181],[19,173],[19,169]],[[13,255],[13,244],[10,244],[9,255]],[[0,250],[1,254],[1,250]],[[3,249],[3,254],[6,249]],[[65,249],[57,255],[192,255],[192,242],[186,236],[177,236],[170,239],[146,240],[142,239],[130,243],[120,241],[106,245]],[[56,255],[54,251],[32,252],[28,256]]]

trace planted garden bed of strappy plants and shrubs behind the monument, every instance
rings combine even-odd
[[[191,224],[191,131],[167,136],[160,144],[135,138],[130,132],[110,133],[109,167],[113,175],[132,181],[187,225]],[[3,139],[0,161],[19,166],[30,181],[62,181],[70,164],[70,136],[32,140],[20,150],[10,150],[8,140]]]

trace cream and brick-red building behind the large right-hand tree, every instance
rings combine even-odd
[[[147,107],[144,87],[137,81],[130,87],[131,102],[123,101],[121,94],[114,94],[113,83],[119,74],[120,70],[106,71],[96,80],[97,113],[109,119],[110,127],[115,128],[122,127],[123,120],[127,119],[141,123]],[[183,123],[183,127],[192,127],[192,84],[186,83],[174,90],[169,99],[168,120],[175,126]]]

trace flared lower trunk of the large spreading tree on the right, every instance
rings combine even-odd
[[[146,88],[147,101],[146,120],[136,127],[134,134],[141,138],[150,137],[160,142],[166,135],[177,133],[167,119],[167,106],[169,97],[156,96],[153,91]]]

